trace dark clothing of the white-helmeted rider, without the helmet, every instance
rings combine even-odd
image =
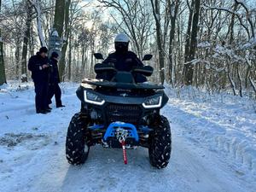
[[[137,58],[137,55],[131,51],[127,51],[125,54],[118,54],[114,52],[108,55],[108,58],[102,63],[113,63],[114,67],[118,71],[130,72],[133,67],[143,67],[143,62]],[[96,79],[110,80],[113,78],[114,73],[97,74]],[[144,82],[147,79],[137,75],[137,82]]]

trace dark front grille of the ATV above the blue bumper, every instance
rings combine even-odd
[[[142,115],[142,109],[137,105],[108,104],[105,109],[109,122],[122,121],[137,125]]]

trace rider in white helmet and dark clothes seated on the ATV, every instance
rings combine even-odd
[[[108,55],[108,58],[102,63],[113,63],[117,71],[130,72],[134,67],[143,67],[143,62],[137,58],[137,55],[128,50],[129,38],[124,33],[120,33],[114,39],[115,52]],[[96,79],[111,80],[114,73],[97,73]],[[147,79],[143,75],[137,74],[135,77],[137,83],[143,83]]]

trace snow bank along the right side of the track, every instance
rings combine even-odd
[[[227,94],[209,96],[192,87],[172,90],[166,113],[173,122],[183,125],[183,135],[207,144],[232,162],[256,173],[255,101]]]

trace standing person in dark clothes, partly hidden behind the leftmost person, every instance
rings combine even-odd
[[[49,104],[51,103],[51,98],[53,96],[55,96],[56,108],[65,107],[64,105],[62,105],[62,102],[61,102],[61,88],[59,86],[60,77],[59,77],[59,70],[58,70],[58,58],[59,58],[58,53],[52,52],[49,59],[50,69],[49,69],[48,108],[49,108]]]

